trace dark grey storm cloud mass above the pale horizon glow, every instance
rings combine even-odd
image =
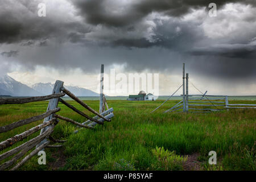
[[[126,64],[127,71],[177,73],[185,62],[199,75],[234,78],[256,74],[255,46],[250,42],[256,37],[253,13],[242,17],[252,28],[238,27],[236,35],[225,35],[224,29],[219,31],[220,38],[210,38],[203,28],[207,11],[191,21],[182,18],[192,9],[208,9],[212,1],[74,0],[69,3],[75,6],[75,13],[69,9],[55,12],[55,7],[49,10],[47,6],[46,17],[37,15],[39,2],[1,1],[0,44],[21,46],[12,61],[26,68],[81,68],[88,73],[104,63]],[[253,0],[214,1],[218,9],[229,2],[256,5]],[[152,18],[152,13],[167,18]],[[212,21],[220,21],[221,27],[236,20],[239,18],[218,14]],[[219,27],[214,28],[218,32]]]

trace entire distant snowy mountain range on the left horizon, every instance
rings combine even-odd
[[[54,84],[51,83],[44,84],[40,82],[30,87],[5,75],[0,77],[0,96],[44,96],[52,93],[53,86]],[[64,86],[76,96],[99,96],[98,93],[79,86]]]

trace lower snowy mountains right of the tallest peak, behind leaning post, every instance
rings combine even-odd
[[[43,93],[44,95],[52,94],[54,84],[51,83],[37,83],[31,86],[34,90]],[[67,86],[64,85],[66,89],[75,94],[75,96],[86,96],[86,97],[98,97],[99,94],[93,92],[92,90],[80,88],[79,86]]]

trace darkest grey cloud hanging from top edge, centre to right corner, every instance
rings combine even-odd
[[[116,7],[114,10],[108,8],[114,6],[113,1],[108,0],[72,0],[80,13],[85,17],[86,23],[104,24],[106,26],[123,27],[136,23],[150,13],[158,12],[170,16],[181,16],[187,14],[191,9],[200,7],[208,7],[212,1],[205,0],[141,0],[132,1],[128,5],[125,3],[123,7]],[[112,3],[111,3],[112,2]],[[256,5],[254,0],[216,0],[214,3],[218,7],[230,2],[240,2],[246,5]]]

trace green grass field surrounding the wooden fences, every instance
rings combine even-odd
[[[93,116],[75,101],[68,102]],[[255,170],[255,109],[162,114],[179,102],[171,100],[149,114],[162,102],[109,100],[109,107],[114,108],[112,122],[97,125],[95,130],[81,129],[77,134],[73,134],[76,126],[60,121],[52,136],[68,139],[64,147],[46,148],[46,165],[39,165],[39,156],[34,156],[19,170],[183,170],[191,156],[196,156],[196,166],[200,170]],[[98,110],[98,101],[85,103]],[[230,101],[232,103],[254,104],[255,101]],[[47,105],[47,101],[0,105],[0,126],[44,113]],[[78,122],[86,120],[63,104],[59,107],[58,114],[64,117]],[[0,141],[39,123],[42,121],[2,133]],[[0,154],[5,151],[0,151]],[[208,164],[209,151],[217,152],[217,165]]]

